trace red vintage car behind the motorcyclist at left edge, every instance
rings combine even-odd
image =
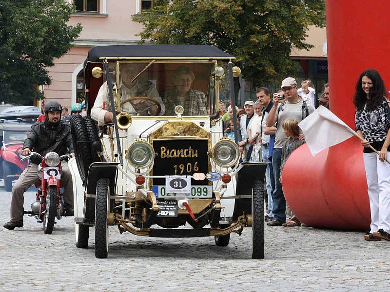
[[[12,191],[12,181],[18,179],[28,166],[28,160],[20,161],[20,151],[32,125],[32,123],[21,122],[0,123],[0,177],[4,180],[4,188],[7,192]]]

